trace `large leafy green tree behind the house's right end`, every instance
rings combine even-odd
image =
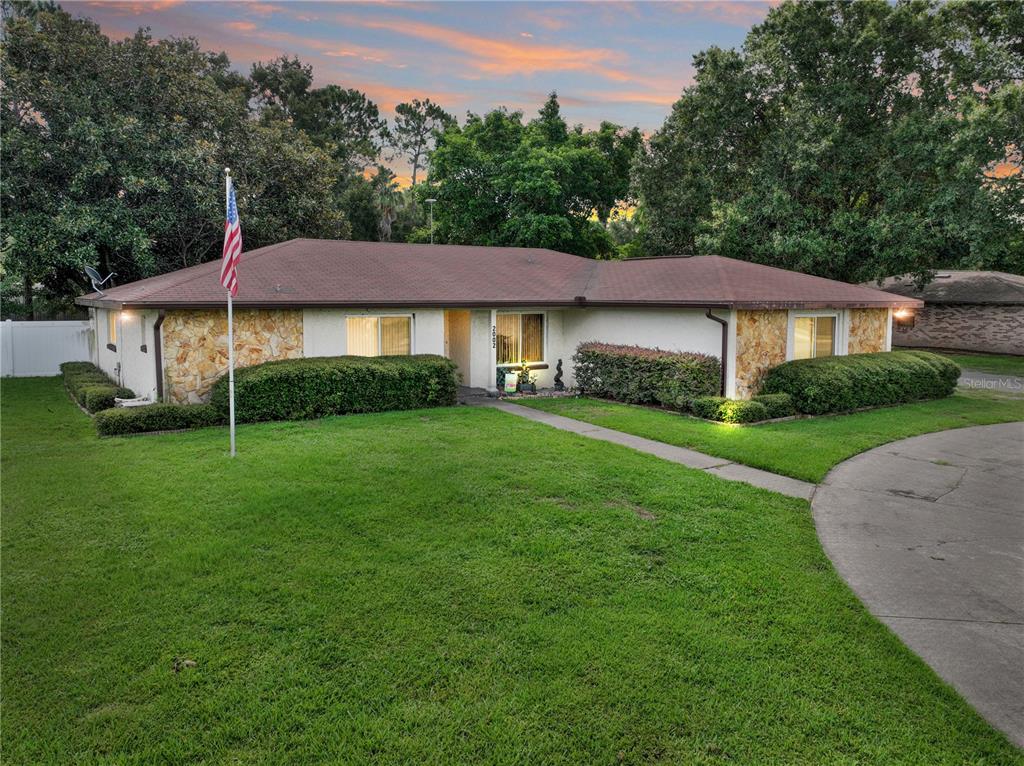
[[[694,58],[634,170],[645,249],[850,282],[1024,271],[1018,4],[783,3]],[[998,163],[1005,174],[989,177]]]

